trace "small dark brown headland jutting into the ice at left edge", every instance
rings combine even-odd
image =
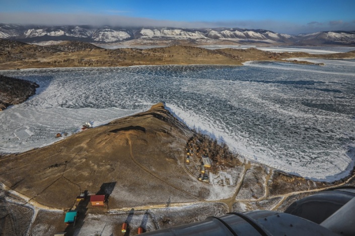
[[[0,75],[0,110],[24,102],[38,87],[34,82]]]

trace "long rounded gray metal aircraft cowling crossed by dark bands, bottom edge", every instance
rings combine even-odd
[[[275,211],[249,211],[244,213],[254,220],[261,228],[265,230],[265,234],[260,234],[256,228],[237,215],[221,216],[223,222],[227,223],[238,236],[247,235],[288,235],[288,236],[338,236],[338,234],[327,228],[313,223],[309,220],[302,219],[295,215],[287,213],[278,213]],[[144,235],[233,235],[231,231],[221,221],[216,218],[207,218],[206,220],[180,225],[172,228],[161,229],[145,233]]]

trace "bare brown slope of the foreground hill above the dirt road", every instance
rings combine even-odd
[[[110,209],[164,205],[169,196],[174,196],[172,203],[195,201],[193,196],[208,194],[208,189],[179,167],[191,135],[158,104],[53,145],[5,156],[0,159],[0,181],[43,205],[62,209],[72,207],[82,191],[96,193],[112,182]]]

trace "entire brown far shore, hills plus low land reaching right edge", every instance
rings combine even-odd
[[[107,50],[83,42],[69,41],[44,47],[0,40],[0,69],[172,64],[242,65],[250,60],[281,61],[292,57],[353,58],[354,55],[354,52],[330,55],[275,53],[255,48],[209,50],[181,45],[153,49]]]

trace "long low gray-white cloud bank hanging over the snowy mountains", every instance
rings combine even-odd
[[[296,24],[290,22],[265,21],[220,21],[220,22],[182,22],[153,20],[117,15],[93,14],[46,14],[46,13],[0,13],[1,23],[27,25],[92,25],[112,27],[176,27],[176,28],[245,28],[265,29],[277,33],[299,34],[317,31],[346,30],[355,31],[355,21],[310,22]]]

